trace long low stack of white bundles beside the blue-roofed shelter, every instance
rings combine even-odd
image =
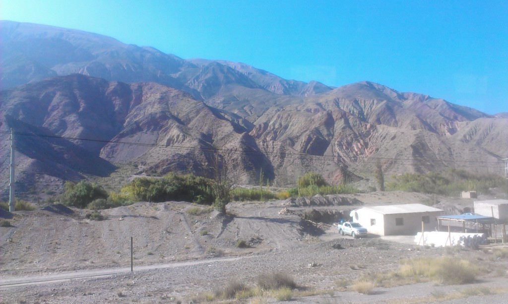
[[[450,240],[451,239],[451,240]],[[487,235],[484,233],[458,233],[458,232],[440,232],[429,231],[418,232],[415,236],[417,245],[431,245],[435,247],[460,245],[465,248],[478,248],[479,245],[487,244]]]

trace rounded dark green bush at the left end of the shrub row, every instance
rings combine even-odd
[[[65,184],[63,202],[67,206],[86,208],[90,202],[99,198],[108,198],[108,192],[100,185],[87,182],[79,182],[77,184],[67,182]]]

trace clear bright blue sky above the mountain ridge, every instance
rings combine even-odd
[[[508,1],[0,0],[0,19],[508,112]]]

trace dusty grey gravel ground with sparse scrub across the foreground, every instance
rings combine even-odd
[[[434,199],[404,192],[348,197],[368,205],[428,203]],[[436,202],[449,209],[458,206],[458,212],[472,206],[468,199],[436,197]],[[400,259],[449,254],[442,248],[418,248],[411,244],[411,237],[342,237],[331,225],[314,225],[299,216],[310,209],[345,212],[357,207],[297,208],[283,201],[235,202],[228,205],[230,215],[220,216],[185,202],[140,202],[103,211],[107,217],[103,221],[86,219],[89,211],[77,209],[72,214],[62,210],[16,212],[14,227],[0,227],[0,302],[189,302],[229,281],[253,286],[259,275],[274,271],[291,275],[301,289],[319,294],[298,296],[293,301],[301,303],[382,303],[397,299],[403,303],[436,291],[453,293],[470,288],[422,283],[377,288],[374,294],[362,295],[341,286],[339,282],[367,272],[395,269]],[[282,208],[290,212],[279,214]],[[201,213],[191,214],[196,210]],[[249,247],[238,248],[239,240]],[[338,244],[343,249],[336,249]],[[508,260],[482,251],[455,254],[477,259],[487,269],[478,284],[508,283]],[[508,299],[503,291],[460,300],[478,303]]]

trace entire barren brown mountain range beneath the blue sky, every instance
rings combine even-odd
[[[18,184],[138,174],[207,175],[215,153],[239,183],[330,182],[459,167],[501,173],[508,114],[363,81],[331,87],[244,63],[182,59],[94,33],[0,21],[0,175],[15,133]],[[498,167],[498,168],[497,168]]]

